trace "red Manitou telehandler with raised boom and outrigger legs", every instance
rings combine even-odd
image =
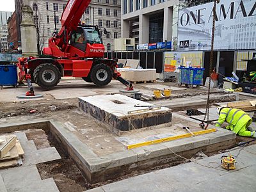
[[[104,58],[100,28],[80,22],[90,1],[69,0],[61,16],[60,32],[49,38],[49,47],[43,49],[43,55],[19,58],[19,81],[25,78],[30,88],[26,95],[33,95],[31,81],[42,88],[52,88],[61,77],[82,77],[97,86],[105,86],[114,78],[132,88],[116,71],[116,60]]]

